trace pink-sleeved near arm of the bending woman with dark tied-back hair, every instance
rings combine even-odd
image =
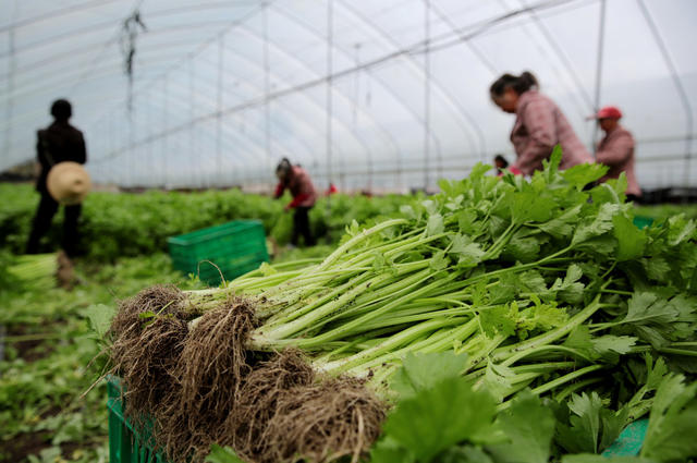
[[[543,159],[549,158],[557,143],[557,122],[554,108],[546,101],[530,101],[526,105],[523,113],[523,125],[530,138],[523,153],[518,153],[517,160],[513,163],[513,169],[518,169],[526,175],[531,175],[537,166]]]

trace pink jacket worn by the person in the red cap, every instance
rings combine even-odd
[[[617,125],[615,130],[607,134],[598,144],[596,159],[610,168],[608,174],[600,179],[601,182],[616,179],[622,172],[625,172],[627,175],[626,194],[641,196],[641,190],[634,173],[634,137],[629,131]]]

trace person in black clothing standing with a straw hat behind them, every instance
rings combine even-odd
[[[41,200],[36,210],[32,233],[26,244],[27,254],[39,252],[39,242],[51,227],[53,216],[58,211],[59,204],[51,197],[46,186],[49,170],[62,161],[74,161],[81,165],[87,161],[83,133],[68,122],[72,114],[72,107],[68,100],[56,100],[51,105],[53,123],[37,132],[36,153],[41,170],[36,182],[36,191],[41,195]],[[74,256],[77,253],[77,220],[81,212],[82,205],[80,204],[65,206],[61,244],[69,256]]]

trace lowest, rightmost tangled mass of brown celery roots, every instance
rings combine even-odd
[[[230,444],[258,462],[358,461],[380,435],[387,406],[351,377],[320,377],[301,351],[285,350],[259,364],[228,418]],[[232,441],[230,440],[232,436]]]

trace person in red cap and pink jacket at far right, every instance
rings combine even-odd
[[[620,125],[622,111],[614,106],[607,106],[591,118],[598,120],[598,125],[606,133],[598,144],[596,160],[608,166],[610,170],[600,182],[617,179],[624,172],[627,178],[627,199],[637,200],[641,196],[641,190],[634,173],[634,137]]]

